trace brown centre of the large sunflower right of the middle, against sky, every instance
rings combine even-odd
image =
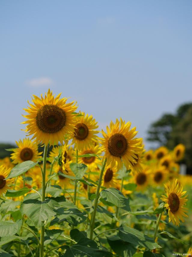
[[[126,153],[128,143],[124,135],[116,133],[108,140],[108,150],[111,155],[121,157]]]

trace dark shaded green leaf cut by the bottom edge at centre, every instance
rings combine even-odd
[[[87,238],[81,238],[79,242],[73,246],[61,246],[61,249],[66,249],[66,252],[60,257],[74,257],[74,256],[89,256],[89,257],[109,257],[111,252],[99,250],[96,242]]]

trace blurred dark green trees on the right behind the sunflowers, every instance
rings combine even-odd
[[[148,141],[167,146],[172,150],[177,144],[186,147],[184,163],[192,170],[192,103],[178,107],[175,114],[166,113],[153,122],[148,130]]]

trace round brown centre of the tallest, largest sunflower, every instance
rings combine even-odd
[[[66,113],[54,104],[46,104],[38,110],[36,123],[44,133],[56,133],[65,126]]]

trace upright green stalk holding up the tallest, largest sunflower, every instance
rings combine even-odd
[[[43,172],[42,172],[42,195],[41,195],[41,201],[42,202],[45,200],[45,173],[46,173],[47,150],[48,150],[48,145],[45,145],[45,147],[44,147],[44,155],[43,155]],[[43,255],[44,255],[44,233],[45,233],[45,225],[43,225],[41,227],[40,257],[43,257]]]

